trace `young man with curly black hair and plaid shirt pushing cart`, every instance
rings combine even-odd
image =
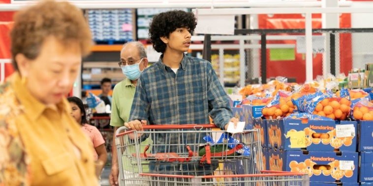
[[[185,54],[189,50],[191,32],[196,24],[196,18],[191,12],[172,10],[155,15],[149,35],[155,51],[162,54],[155,64],[141,73],[130,122],[124,123],[124,126],[141,131],[142,125],[147,124],[208,124],[209,115],[222,130],[227,129],[229,122],[238,122],[233,117],[228,96],[212,64]],[[196,140],[180,141],[180,138],[183,138],[180,133],[152,135],[155,145],[191,144]],[[197,141],[203,142],[203,139]],[[182,153],[178,145],[157,147],[152,149],[152,153]],[[177,170],[174,170],[175,167],[151,164],[150,171],[178,175],[208,175],[213,171],[213,166],[198,164],[194,167],[183,165]]]

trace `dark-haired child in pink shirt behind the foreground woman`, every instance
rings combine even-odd
[[[71,106],[71,116],[81,125],[82,131],[87,134],[93,143],[94,160],[96,161],[96,165],[101,165],[98,167],[98,174],[100,174],[107,160],[105,140],[96,127],[88,124],[86,119],[86,109],[84,108],[82,100],[78,97],[68,97],[67,101]]]

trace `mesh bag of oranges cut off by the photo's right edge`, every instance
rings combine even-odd
[[[360,99],[353,105],[351,118],[354,120],[373,121],[373,104],[369,99]]]

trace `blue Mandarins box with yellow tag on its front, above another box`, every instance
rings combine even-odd
[[[268,148],[356,152],[356,121],[267,120]]]

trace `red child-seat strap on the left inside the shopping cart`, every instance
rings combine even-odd
[[[177,153],[156,153],[156,154],[147,154],[146,151],[149,149],[149,145],[147,145],[144,149],[144,158],[148,158],[151,156],[152,158],[155,158],[157,160],[163,160],[163,161],[179,161],[179,162],[188,162],[190,161],[191,157],[193,157],[193,151],[190,149],[189,145],[187,145],[188,150],[188,158],[181,158]]]

